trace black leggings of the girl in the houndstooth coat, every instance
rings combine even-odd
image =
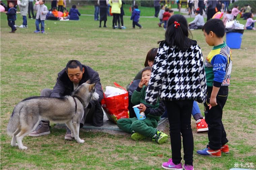
[[[193,165],[194,140],[191,129],[191,112],[194,100],[165,101],[170,124],[171,154],[174,164],[181,158],[181,134],[183,138],[184,160],[186,165]]]

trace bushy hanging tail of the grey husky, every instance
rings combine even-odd
[[[20,126],[20,111],[22,107],[18,104],[12,111],[9,123],[7,125],[7,134],[12,136]]]

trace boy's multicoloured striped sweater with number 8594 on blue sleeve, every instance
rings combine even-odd
[[[204,62],[206,84],[209,87],[228,86],[232,68],[231,50],[224,42],[214,46]]]

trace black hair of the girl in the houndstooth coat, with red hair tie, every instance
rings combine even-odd
[[[174,22],[178,22],[180,26],[175,28]],[[188,38],[188,23],[187,19],[180,14],[172,15],[167,21],[167,30],[165,32],[165,42],[168,46],[176,45],[182,51],[186,51],[191,45],[196,44],[196,41]],[[158,43],[164,42],[158,41]]]

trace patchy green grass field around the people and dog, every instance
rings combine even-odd
[[[16,25],[21,25],[22,17],[17,18]],[[113,82],[126,86],[143,68],[149,49],[158,47],[156,42],[164,39],[158,18],[141,17],[143,29],[132,29],[131,20],[124,18],[126,30],[113,30],[111,17],[108,28],[98,28],[93,16],[80,18],[69,22],[46,20],[45,34],[34,34],[35,20],[28,19],[28,29],[10,34],[6,15],[1,13],[1,169],[161,169],[162,162],[171,156],[170,140],[159,145],[149,139],[133,141],[130,135],[81,130],[85,143],[78,144],[64,140],[65,129],[52,128],[50,135],[26,136],[26,151],[10,145],[6,126],[14,105],[40,95],[43,88],[53,88],[57,73],[68,60],[80,60],[98,71],[103,89],[114,86]],[[201,30],[192,34],[205,58],[212,47],[205,43]],[[226,170],[234,168],[235,163],[251,163],[254,168],[249,169],[256,169],[255,47],[256,32],[245,31],[241,49],[232,49],[231,85],[223,112],[230,154],[221,158],[196,155],[208,139],[206,133],[196,133],[192,119],[196,170]]]

